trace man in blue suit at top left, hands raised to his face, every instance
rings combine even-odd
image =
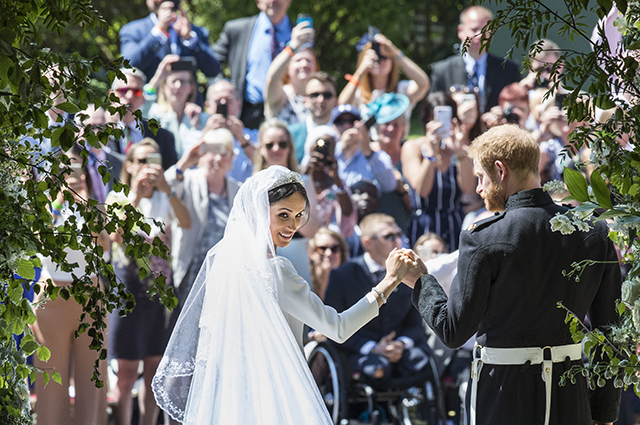
[[[196,69],[207,77],[220,72],[209,45],[209,30],[189,22],[179,0],[147,0],[149,16],[129,22],[120,30],[120,53],[151,78],[168,55],[192,56]]]

